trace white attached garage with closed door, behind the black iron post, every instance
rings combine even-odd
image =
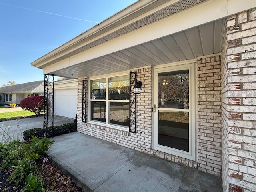
[[[54,82],[54,115],[75,118],[77,112],[77,80]]]

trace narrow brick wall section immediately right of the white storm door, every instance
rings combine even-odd
[[[198,170],[221,175],[220,56],[202,58],[198,67]]]

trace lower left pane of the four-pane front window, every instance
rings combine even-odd
[[[106,122],[105,101],[91,101],[91,120]]]

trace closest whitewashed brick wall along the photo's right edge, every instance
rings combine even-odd
[[[230,16],[226,37],[222,110],[225,125],[223,145],[228,142],[228,187],[230,192],[255,192],[256,9]],[[226,153],[226,147],[223,148]],[[226,154],[223,161],[227,163]],[[223,178],[224,182],[226,178]]]

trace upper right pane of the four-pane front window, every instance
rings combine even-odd
[[[108,92],[109,99],[129,100],[129,76],[109,78]]]

